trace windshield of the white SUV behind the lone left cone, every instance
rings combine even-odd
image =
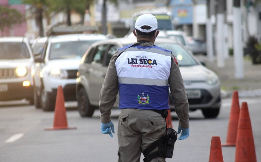
[[[57,42],[51,45],[49,59],[82,58],[88,47],[95,41]]]

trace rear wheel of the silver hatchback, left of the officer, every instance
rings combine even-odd
[[[81,117],[92,117],[95,108],[90,105],[89,98],[84,88],[80,88],[77,94],[78,111]]]

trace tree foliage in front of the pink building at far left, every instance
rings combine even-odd
[[[14,24],[21,24],[24,21],[23,15],[13,8],[0,6],[0,30],[11,27]]]

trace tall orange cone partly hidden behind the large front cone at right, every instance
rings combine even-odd
[[[222,146],[235,146],[236,145],[236,133],[239,118],[239,101],[238,101],[238,91],[233,91],[232,94],[232,104],[230,109],[230,116],[227,128],[227,141],[222,144]]]

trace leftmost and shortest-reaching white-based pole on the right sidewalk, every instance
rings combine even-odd
[[[213,62],[213,28],[212,28],[212,21],[211,15],[214,13],[214,1],[207,0],[207,55],[208,60]]]

